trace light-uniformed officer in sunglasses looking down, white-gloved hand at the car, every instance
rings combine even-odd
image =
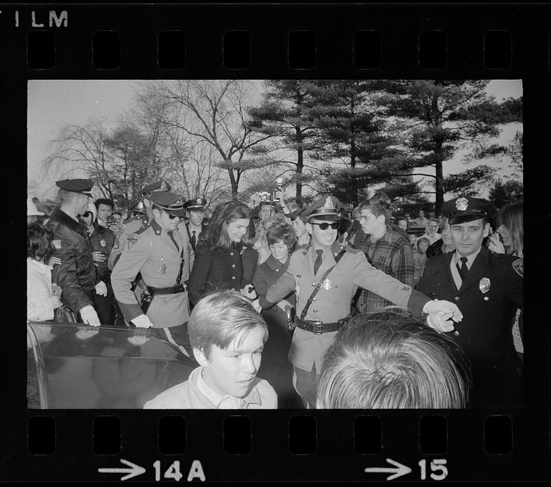
[[[187,235],[178,231],[178,217],[185,213],[183,199],[169,191],[156,191],[150,200],[153,219],[129,235],[111,274],[113,291],[127,321],[136,327],[159,329],[159,336],[181,345],[191,356],[187,338],[190,247]],[[147,309],[132,292],[138,272],[152,296]]]

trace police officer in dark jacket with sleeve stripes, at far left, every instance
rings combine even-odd
[[[96,279],[92,246],[85,224],[79,220],[91,201],[94,182],[61,180],[56,181],[56,186],[61,204],[45,225],[54,234],[52,243],[56,249],[49,261],[53,267],[52,281],[63,290],[63,304],[79,312],[83,323],[99,326],[94,294],[107,296],[107,286]]]

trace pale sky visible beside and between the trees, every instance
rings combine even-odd
[[[48,144],[56,138],[59,129],[65,125],[85,125],[90,118],[116,122],[116,118],[132,106],[136,86],[135,80],[28,81],[28,180],[37,182],[35,193],[39,198],[52,197],[56,192],[56,177],[43,177],[39,167],[50,152]],[[498,101],[510,96],[519,97],[522,95],[522,81],[492,80],[488,84],[488,94]],[[521,130],[520,124],[504,126],[497,142],[512,140],[518,130]],[[498,160],[484,163],[497,167],[501,175],[510,172]],[[444,165],[444,175],[464,171],[465,167],[460,161],[448,162]]]

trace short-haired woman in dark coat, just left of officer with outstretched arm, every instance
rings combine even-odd
[[[265,308],[266,292],[289,266],[295,232],[289,224],[276,221],[267,230],[270,256],[256,268],[253,284],[258,294],[262,316],[268,325],[269,337],[262,351],[258,376],[266,379],[278,393],[278,408],[301,408],[302,401],[293,388],[293,366],[287,358],[291,347],[291,332],[287,328],[287,307],[295,307],[296,295],[291,292],[277,305]]]

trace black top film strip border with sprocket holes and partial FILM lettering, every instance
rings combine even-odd
[[[510,78],[551,69],[545,4],[274,7],[5,6],[1,54],[32,78]]]

